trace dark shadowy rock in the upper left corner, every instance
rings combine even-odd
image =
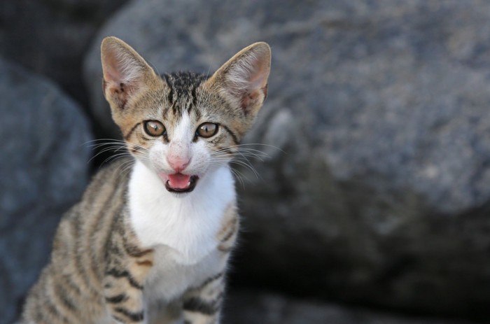
[[[2,0],[0,55],[48,76],[86,103],[83,55],[99,26],[126,1]]]

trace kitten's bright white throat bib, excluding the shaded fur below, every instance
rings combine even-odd
[[[235,202],[235,183],[225,165],[200,178],[193,192],[176,194],[137,160],[128,195],[130,222],[141,244],[165,246],[179,262],[192,264],[216,248],[225,208]]]

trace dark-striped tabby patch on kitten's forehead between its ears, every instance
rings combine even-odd
[[[167,94],[169,111],[167,112],[172,112],[177,118],[183,111],[190,113],[191,110],[195,110],[199,113],[196,109],[199,101],[197,88],[206,80],[206,76],[193,72],[177,72],[164,74],[163,79],[169,86]]]

